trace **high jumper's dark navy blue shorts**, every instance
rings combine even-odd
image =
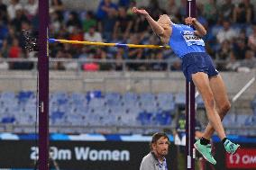
[[[206,52],[188,53],[182,58],[182,70],[187,81],[192,80],[192,74],[204,72],[209,77],[218,75],[212,58]]]

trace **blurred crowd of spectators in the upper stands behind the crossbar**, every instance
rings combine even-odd
[[[25,0],[23,0],[25,1]],[[0,58],[33,58],[35,53],[24,49],[22,30],[38,29],[38,0],[0,0]],[[75,3],[76,1],[74,1]],[[115,1],[116,2],[116,1]],[[87,40],[132,44],[160,44],[144,17],[131,13],[133,0],[101,0],[96,10],[67,10],[61,0],[50,0],[49,36],[65,40]],[[220,70],[248,71],[256,67],[256,14],[250,0],[197,1],[197,19],[207,30],[206,49]],[[166,9],[160,0],[150,0],[145,8],[154,19],[168,13],[173,22],[184,22],[187,0],[169,0]],[[122,70],[123,60],[128,70],[180,70],[180,61],[172,50],[99,48],[70,44],[50,44],[50,58],[81,58],[84,62],[53,62],[51,69]],[[114,62],[85,62],[101,59]],[[154,62],[150,62],[154,59]],[[168,67],[166,62],[171,63]],[[1,69],[32,69],[32,63],[0,62]]]

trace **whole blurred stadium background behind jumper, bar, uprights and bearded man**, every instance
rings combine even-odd
[[[147,9],[184,23],[187,0],[50,0],[49,37],[158,44],[148,22],[131,13]],[[216,166],[256,169],[256,0],[197,0],[207,30],[206,50],[224,77],[232,103],[224,118],[241,151],[225,155],[214,136]],[[37,169],[37,52],[24,49],[23,30],[38,30],[38,0],[0,0],[0,168]],[[166,49],[123,49],[50,44],[50,168],[139,169],[151,134],[169,134],[169,169],[186,168],[185,78]],[[207,123],[197,95],[197,131]],[[178,157],[178,158],[177,158]]]

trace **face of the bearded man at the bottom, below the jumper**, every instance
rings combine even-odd
[[[158,157],[164,157],[168,154],[169,140],[165,137],[161,137],[152,145],[154,153]]]

